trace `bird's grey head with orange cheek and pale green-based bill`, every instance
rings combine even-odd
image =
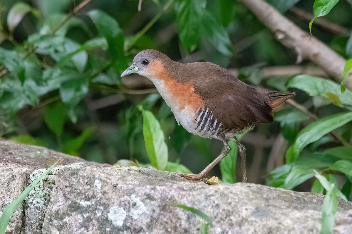
[[[159,51],[154,49],[145,49],[134,57],[132,65],[121,74],[121,77],[132,73],[137,73],[150,78],[150,75],[159,69],[159,62],[165,63],[171,61],[172,60],[168,56]]]

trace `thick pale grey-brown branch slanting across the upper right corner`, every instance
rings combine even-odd
[[[309,59],[319,65],[328,75],[341,82],[346,60],[320,40],[303,31],[292,21],[280,14],[264,0],[239,0],[249,8],[258,20],[274,33],[276,40],[294,49],[297,63]],[[346,87],[352,90],[352,74],[347,78]]]

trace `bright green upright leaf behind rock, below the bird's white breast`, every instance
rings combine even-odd
[[[146,111],[142,106],[138,109],[143,114],[143,136],[150,163],[158,170],[164,171],[169,156],[160,123],[150,111]]]

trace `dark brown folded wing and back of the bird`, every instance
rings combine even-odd
[[[272,122],[272,109],[263,92],[235,78],[214,63],[191,63],[197,74],[193,77],[199,93],[224,128],[245,129],[253,123]],[[206,72],[205,72],[206,71]]]

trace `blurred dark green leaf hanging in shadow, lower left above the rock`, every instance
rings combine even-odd
[[[57,137],[62,135],[65,124],[65,116],[66,106],[62,102],[56,102],[54,105],[47,106],[45,108],[44,122]]]

